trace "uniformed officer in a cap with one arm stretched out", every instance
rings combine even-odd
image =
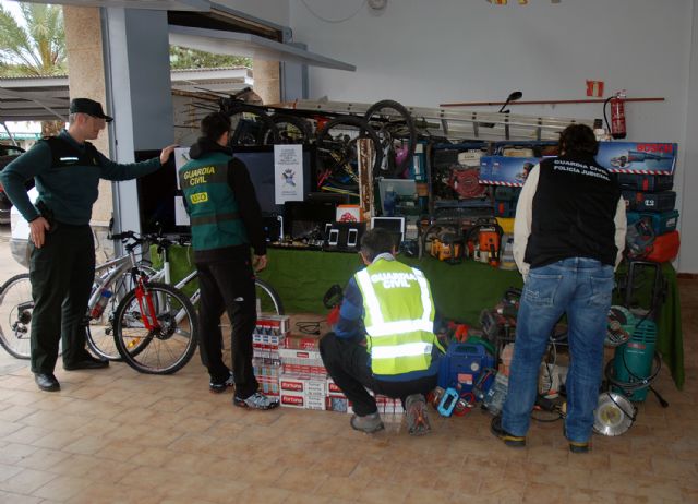
[[[75,98],[70,104],[68,130],[37,142],[0,173],[8,196],[29,223],[32,371],[41,391],[60,389],[53,375],[60,338],[67,371],[109,364],[87,352],[82,324],[95,276],[89,219],[99,179],[129,180],[151,173],[174,148],[168,146],[159,158],[147,161],[113,163],[87,142],[97,139],[111,121],[99,103]],[[24,187],[31,178],[39,193],[36,204],[32,204]]]

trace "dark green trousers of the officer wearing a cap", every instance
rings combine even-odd
[[[92,229],[57,223],[44,247],[29,243],[32,315],[32,371],[52,373],[58,344],[63,341],[63,363],[85,359],[84,316],[95,277]]]

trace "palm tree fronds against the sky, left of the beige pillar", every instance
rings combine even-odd
[[[0,5],[0,75],[64,75],[63,9],[41,3],[19,7],[24,25]]]

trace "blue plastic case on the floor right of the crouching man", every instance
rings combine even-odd
[[[494,368],[494,357],[484,345],[452,343],[441,358],[437,384],[443,388],[454,387],[462,396],[472,392],[480,374],[488,368]]]

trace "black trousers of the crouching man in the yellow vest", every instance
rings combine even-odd
[[[405,399],[412,394],[426,395],[436,386],[437,376],[425,376],[407,382],[387,382],[376,380],[369,368],[366,347],[357,340],[338,338],[327,333],[320,340],[320,353],[327,372],[353,404],[353,411],[364,417],[377,411],[375,399],[366,388],[387,397]]]

